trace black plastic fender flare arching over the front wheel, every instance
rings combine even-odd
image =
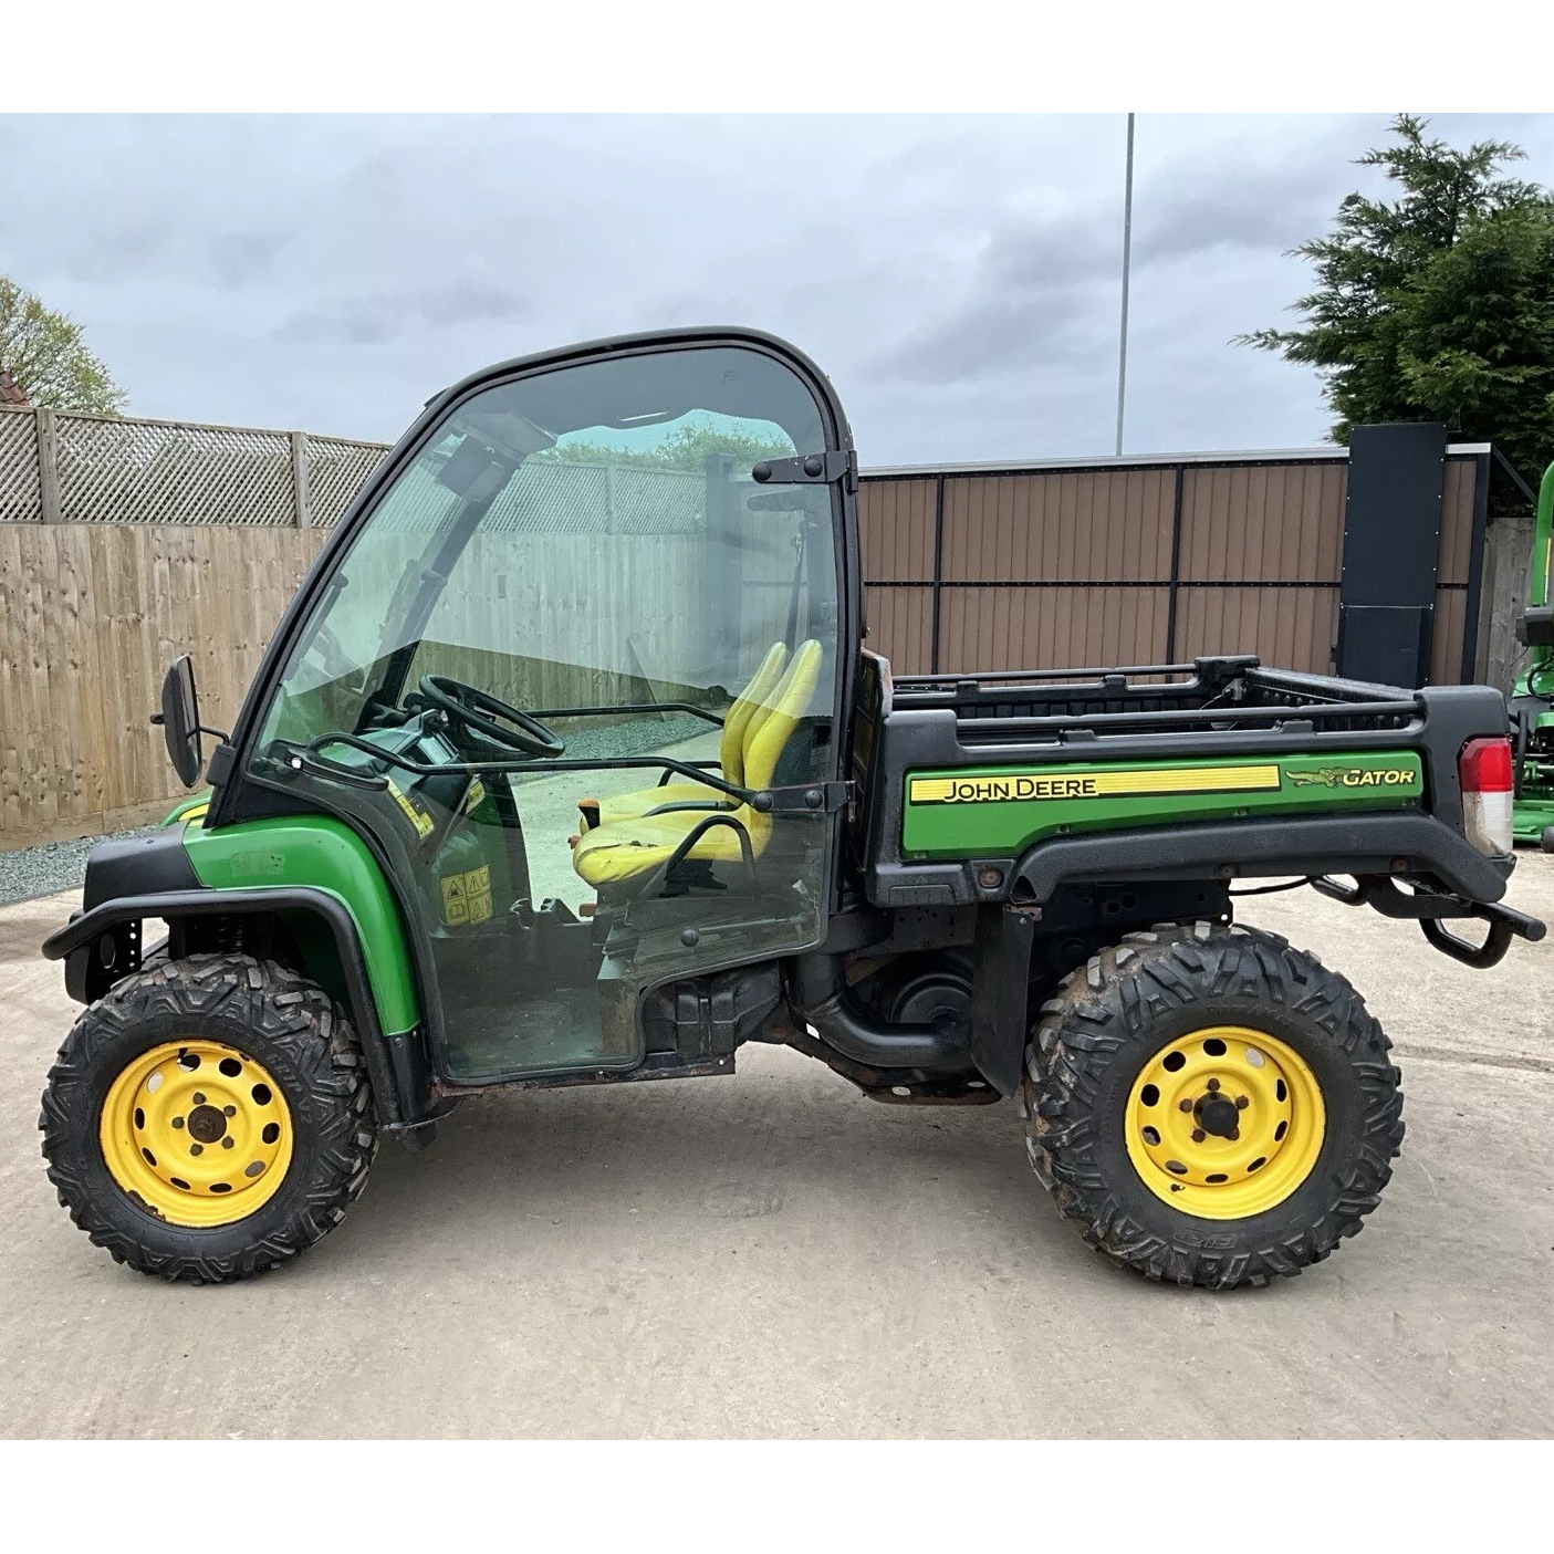
[[[392,1061],[388,1043],[384,1040],[382,1026],[378,1023],[378,1005],[373,1001],[371,982],[367,976],[367,960],[362,956],[356,922],[343,903],[326,890],[315,890],[309,886],[272,886],[250,890],[196,889],[169,890],[154,895],[124,895],[99,903],[50,934],[44,940],[44,957],[47,960],[62,960],[73,949],[96,939],[107,928],[129,920],[278,912],[286,908],[301,908],[303,911],[317,912],[334,934],[334,946],[339,951],[347,991],[351,996],[351,1019],[356,1024],[357,1035],[362,1038],[362,1052],[367,1058],[367,1072],[373,1083],[373,1099],[378,1105],[379,1122],[393,1128],[420,1120],[424,1116],[426,1097],[430,1088],[426,1082],[424,1066],[418,1091],[407,1097],[401,1092],[399,1075],[395,1069],[402,1068],[406,1080],[413,1083],[416,1064],[409,1055],[401,1055],[398,1064]],[[406,1105],[407,1099],[410,1100],[409,1106]]]

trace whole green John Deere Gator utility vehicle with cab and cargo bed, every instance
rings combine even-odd
[[[247,1277],[468,1096],[768,1041],[886,1103],[1013,1097],[1060,1212],[1153,1279],[1326,1257],[1391,1173],[1399,1072],[1235,892],[1310,881],[1470,965],[1542,937],[1500,904],[1504,701],[1254,657],[892,676],[866,640],[852,435],[782,340],[632,336],[438,395],[210,791],[101,844],[45,945],[87,1005],[42,1117],[76,1223]],[[162,720],[193,786],[186,659]]]

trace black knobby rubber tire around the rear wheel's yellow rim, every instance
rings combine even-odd
[[[1246,1218],[1204,1218],[1150,1190],[1124,1134],[1130,1097],[1158,1054],[1232,1026],[1293,1049],[1321,1088],[1326,1131],[1284,1201]],[[1211,923],[1128,934],[1064,977],[1032,1030],[1021,1106],[1030,1164],[1058,1211],[1114,1262],[1181,1285],[1265,1285],[1324,1259],[1377,1206],[1403,1139],[1389,1047],[1349,982],[1276,934]]]

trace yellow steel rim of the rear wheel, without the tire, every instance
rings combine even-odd
[[[1144,1064],[1124,1122],[1144,1186],[1203,1220],[1245,1220],[1312,1175],[1327,1134],[1305,1060],[1267,1030],[1209,1026]]]

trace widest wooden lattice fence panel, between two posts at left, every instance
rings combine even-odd
[[[61,415],[67,524],[292,524],[291,440],[235,426]]]

